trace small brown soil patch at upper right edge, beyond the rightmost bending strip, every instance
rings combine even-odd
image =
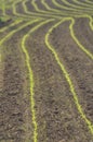
[[[83,28],[82,28],[83,27]],[[90,27],[90,20],[76,19],[74,26],[75,35],[79,42],[91,52],[93,52],[93,31]]]

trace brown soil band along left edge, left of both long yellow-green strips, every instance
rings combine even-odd
[[[32,26],[13,35],[3,46],[3,87],[0,95],[0,141],[25,142],[32,135],[29,79],[21,40]]]

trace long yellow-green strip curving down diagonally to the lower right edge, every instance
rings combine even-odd
[[[50,35],[52,34],[53,29],[56,28],[61,23],[63,23],[63,22],[65,22],[65,21],[67,21],[67,20],[69,20],[69,17],[59,21],[58,23],[56,23],[55,25],[53,25],[53,26],[49,29],[49,32],[48,32],[46,35],[45,35],[45,45],[46,45],[46,47],[51,50],[51,52],[54,55],[55,60],[56,60],[57,64],[59,66],[61,70],[63,71],[63,73],[64,73],[64,75],[65,75],[65,78],[66,78],[66,81],[67,81],[67,83],[68,83],[68,85],[69,85],[69,90],[70,90],[70,92],[71,92],[71,94],[72,94],[72,96],[74,96],[74,100],[75,100],[75,104],[76,104],[76,106],[77,106],[77,109],[78,109],[79,114],[81,115],[82,119],[84,120],[84,122],[88,125],[88,128],[89,128],[91,134],[93,134],[93,125],[92,125],[92,122],[87,118],[85,114],[84,114],[83,110],[82,110],[82,107],[81,107],[81,105],[80,105],[80,103],[79,103],[78,95],[77,95],[77,93],[76,93],[76,91],[75,91],[75,86],[74,86],[72,81],[71,81],[71,79],[70,79],[70,76],[69,76],[69,73],[67,72],[65,66],[64,66],[63,62],[61,61],[61,59],[59,59],[57,52],[55,51],[55,49],[53,48],[53,46],[52,46],[52,45],[50,44],[50,42],[49,42]]]

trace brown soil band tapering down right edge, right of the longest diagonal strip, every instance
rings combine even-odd
[[[57,33],[59,36],[56,36]],[[53,31],[50,42],[54,46],[72,79],[83,111],[85,113],[88,119],[93,121],[92,60],[82,50],[80,50],[72,40],[68,22],[62,24],[58,28]]]

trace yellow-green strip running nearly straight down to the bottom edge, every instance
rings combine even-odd
[[[54,20],[46,20],[44,22],[41,22],[40,24],[38,24],[37,26],[35,26],[34,28],[31,28],[22,39],[22,49],[23,52],[25,54],[25,58],[26,58],[26,64],[27,64],[27,69],[29,72],[29,83],[30,83],[30,103],[31,103],[31,114],[32,114],[32,125],[34,125],[34,142],[38,142],[38,122],[37,122],[37,118],[36,118],[36,109],[35,109],[35,81],[34,81],[34,72],[32,69],[30,67],[30,58],[28,55],[28,51],[26,49],[26,39],[29,37],[30,34],[32,34],[35,31],[37,31],[38,28],[40,28],[41,26],[43,26],[44,24],[52,22]]]

